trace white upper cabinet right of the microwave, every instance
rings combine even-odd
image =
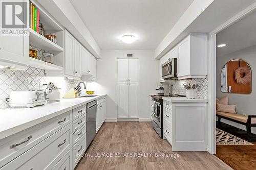
[[[178,44],[179,79],[206,78],[207,34],[190,34]]]

